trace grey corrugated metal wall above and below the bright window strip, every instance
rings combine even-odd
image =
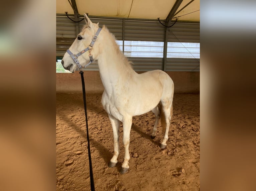
[[[90,18],[92,22],[106,25],[117,40],[164,42],[165,27],[159,22],[125,19]],[[79,23],[81,31],[84,21]],[[76,24],[66,16],[56,16],[56,56],[63,57],[76,38]],[[200,24],[176,23],[169,29],[168,42],[200,42]],[[163,58],[129,58],[135,71],[162,70]],[[200,59],[166,59],[166,71],[200,71]],[[86,70],[98,71],[97,63]]]

